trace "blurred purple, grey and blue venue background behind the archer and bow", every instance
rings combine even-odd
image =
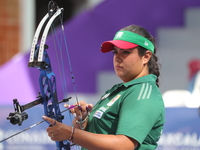
[[[63,20],[75,77],[65,68],[70,103],[96,103],[104,92],[121,82],[113,72],[112,54],[100,52],[101,43],[111,40],[121,28],[136,24],[157,40],[161,64],[160,90],[166,106],[166,123],[159,150],[200,149],[200,1],[199,0],[55,0],[64,8]],[[39,71],[28,68],[34,32],[48,11],[49,0],[0,0],[0,140],[41,120],[42,106],[27,110],[22,126],[6,120],[13,112],[12,100],[21,105],[36,99]],[[60,26],[56,33],[61,34]],[[53,45],[47,38],[48,53],[57,77],[59,99],[63,81]],[[63,55],[63,61],[68,61]],[[61,104],[62,105],[62,104]],[[62,107],[62,106],[61,106]],[[65,121],[69,123],[66,117]],[[46,135],[46,123],[0,143],[0,150],[53,150]]]

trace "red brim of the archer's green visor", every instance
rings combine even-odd
[[[122,41],[122,40],[112,40],[112,41],[103,42],[101,45],[101,51],[103,53],[110,52],[113,50],[114,46],[119,47],[121,49],[131,49],[131,48],[137,47],[138,45],[127,42],[127,41]]]

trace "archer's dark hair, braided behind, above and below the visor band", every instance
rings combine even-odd
[[[152,57],[150,58],[150,60],[148,62],[148,67],[149,67],[149,73],[157,76],[156,85],[159,87],[158,77],[160,76],[160,70],[159,70],[159,64],[158,64],[158,57],[156,56],[157,49],[156,49],[156,41],[155,41],[154,37],[146,29],[144,29],[143,27],[138,26],[138,25],[129,25],[127,27],[122,28],[121,30],[137,33],[137,34],[147,38],[154,44],[154,47],[155,47],[154,54],[152,54]],[[145,49],[141,46],[138,46],[138,51],[139,51],[140,56],[144,56],[147,49]]]

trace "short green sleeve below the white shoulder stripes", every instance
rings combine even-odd
[[[116,134],[126,135],[141,144],[159,118],[162,96],[153,86],[150,97],[138,100],[140,89],[141,86],[135,86],[123,97]]]

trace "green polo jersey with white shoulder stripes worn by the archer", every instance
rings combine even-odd
[[[106,91],[94,106],[86,131],[125,135],[139,142],[137,150],[156,149],[165,111],[156,78],[146,75]]]

